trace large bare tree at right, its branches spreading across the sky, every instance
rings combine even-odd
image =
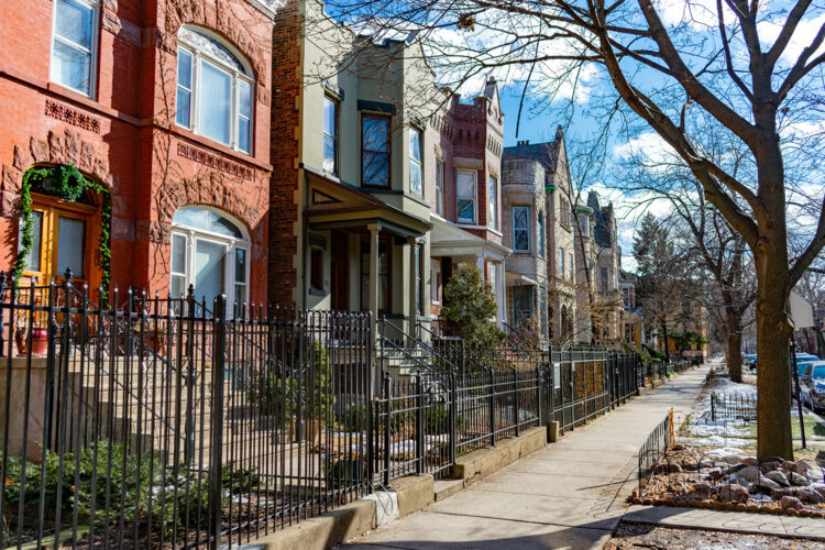
[[[791,458],[788,298],[825,245],[825,205],[816,197],[815,229],[791,257],[790,165],[780,130],[788,120],[816,124],[822,118],[825,24],[816,18],[825,8],[811,0],[675,6],[682,13],[674,18],[673,3],[653,0],[327,3],[330,13],[377,38],[417,32],[433,68],[453,87],[494,68],[532,81],[551,98],[575,98],[588,82],[608,84],[609,91],[590,87],[592,101],[608,106],[610,117],[632,120],[619,107],[626,106],[635,120],[652,129],[754,254],[759,284],[757,454]],[[801,29],[812,25],[814,32],[803,36]],[[575,105],[569,103],[570,109]],[[701,124],[691,123],[696,121]],[[696,145],[694,128],[740,141],[755,178],[736,177],[714,162]],[[799,162],[817,163],[817,156],[800,155]],[[814,193],[821,194],[821,187]]]

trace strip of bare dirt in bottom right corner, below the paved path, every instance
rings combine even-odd
[[[607,541],[605,550],[822,550],[825,542],[785,539],[766,535],[668,529],[651,525],[622,524]]]

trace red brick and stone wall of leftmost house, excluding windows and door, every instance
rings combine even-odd
[[[7,243],[0,268],[16,261],[24,172],[70,163],[111,190],[112,284],[165,293],[172,217],[182,206],[205,205],[245,226],[251,297],[263,299],[272,170],[271,14],[248,0],[102,1],[94,28],[94,87],[87,97],[50,79],[53,12],[52,1],[33,0],[0,21],[9,54],[0,59],[0,233]],[[252,154],[175,124],[177,32],[183,24],[220,36],[252,67]],[[95,286],[99,280],[99,270],[94,270],[88,282]]]

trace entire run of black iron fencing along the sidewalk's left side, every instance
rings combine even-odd
[[[0,548],[232,547],[550,420],[579,426],[645,381],[607,348],[378,339],[386,356],[369,314],[191,289],[100,290],[101,306],[69,282],[0,275]]]

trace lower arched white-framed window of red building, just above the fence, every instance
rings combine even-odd
[[[169,294],[185,296],[195,286],[207,302],[226,294],[227,300],[246,301],[250,279],[250,240],[242,224],[207,207],[184,207],[172,219],[172,278]]]

